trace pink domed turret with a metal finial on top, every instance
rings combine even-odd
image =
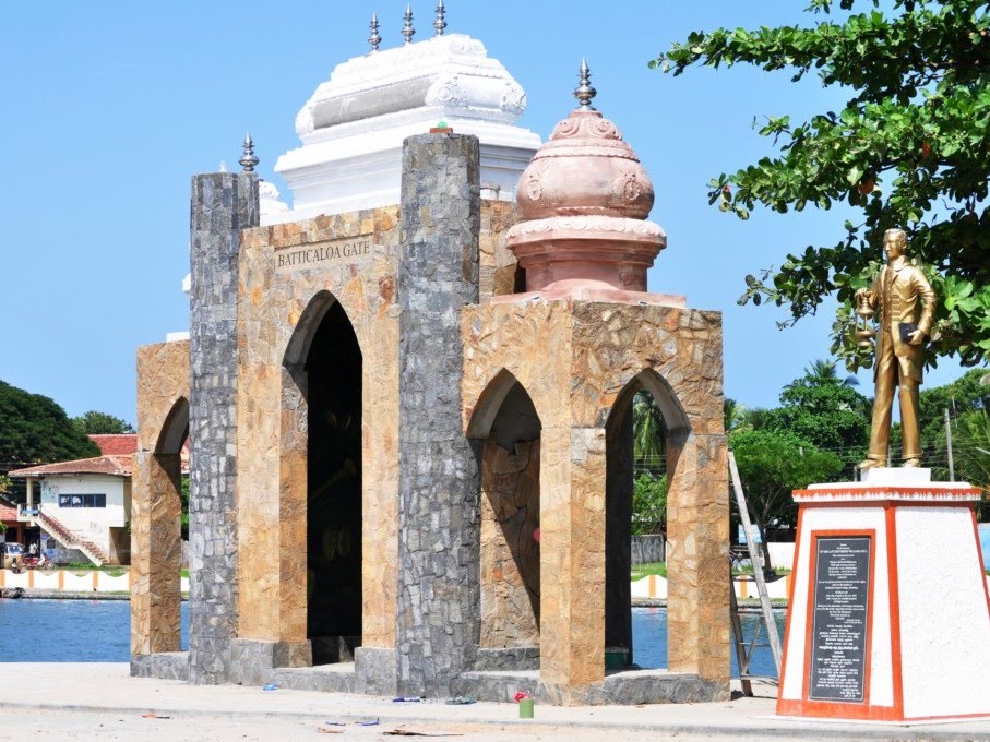
[[[506,241],[526,289],[646,290],[646,270],[667,244],[646,222],[653,183],[619,130],[592,106],[582,62],[577,109],[557,124],[520,179],[525,222]]]

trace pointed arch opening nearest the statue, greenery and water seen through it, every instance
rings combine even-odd
[[[631,379],[606,422],[605,647],[608,669],[667,665],[656,623],[632,611],[633,536],[636,562],[664,562],[667,503],[679,487],[678,459],[690,435],[687,416],[653,370]],[[633,653],[634,619],[637,643]],[[652,635],[655,632],[657,635]]]

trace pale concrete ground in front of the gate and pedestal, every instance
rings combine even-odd
[[[776,689],[758,697],[709,704],[536,706],[532,720],[514,704],[448,705],[446,699],[392,698],[279,687],[189,685],[131,678],[127,663],[7,663],[0,738],[34,732],[59,739],[272,740],[377,739],[391,733],[457,735],[468,740],[560,739],[802,739],[987,740],[990,719],[952,723],[857,723],[774,716]],[[167,717],[167,718],[166,718]],[[371,726],[360,722],[375,721]],[[7,737],[7,735],[10,737]]]

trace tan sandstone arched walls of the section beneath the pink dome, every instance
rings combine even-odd
[[[575,690],[604,679],[606,430],[617,403],[628,404],[641,384],[657,398],[673,439],[668,665],[723,684],[727,693],[720,316],[663,306],[506,298],[465,310],[462,331],[468,435],[489,435],[492,408],[514,380],[542,422],[540,680],[550,695],[564,703],[586,698]],[[620,455],[621,446],[616,451]]]

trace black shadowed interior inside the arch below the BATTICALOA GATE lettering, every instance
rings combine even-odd
[[[307,635],[313,663],[350,661],[361,641],[361,350],[338,302],[306,359]]]

